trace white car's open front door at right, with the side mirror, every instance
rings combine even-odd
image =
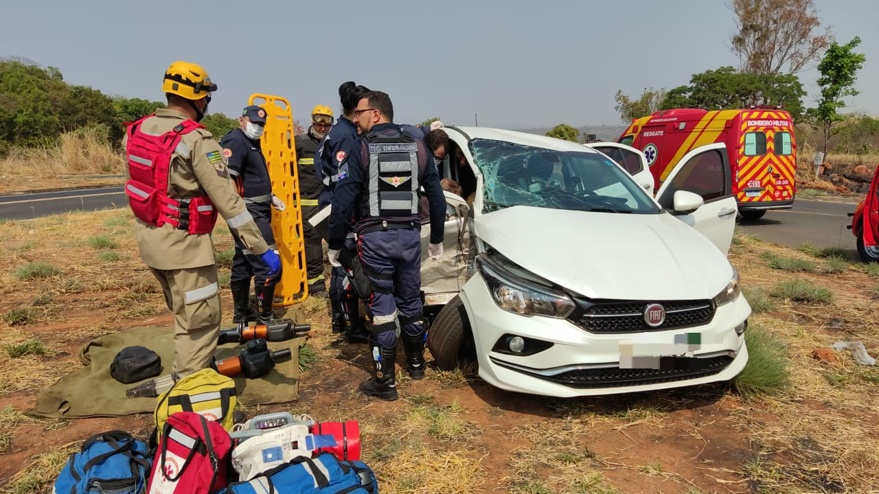
[[[686,193],[699,195],[703,203],[690,200],[692,196]],[[738,209],[723,142],[686,153],[659,187],[656,199],[665,210],[707,236],[724,255],[729,253]]]

